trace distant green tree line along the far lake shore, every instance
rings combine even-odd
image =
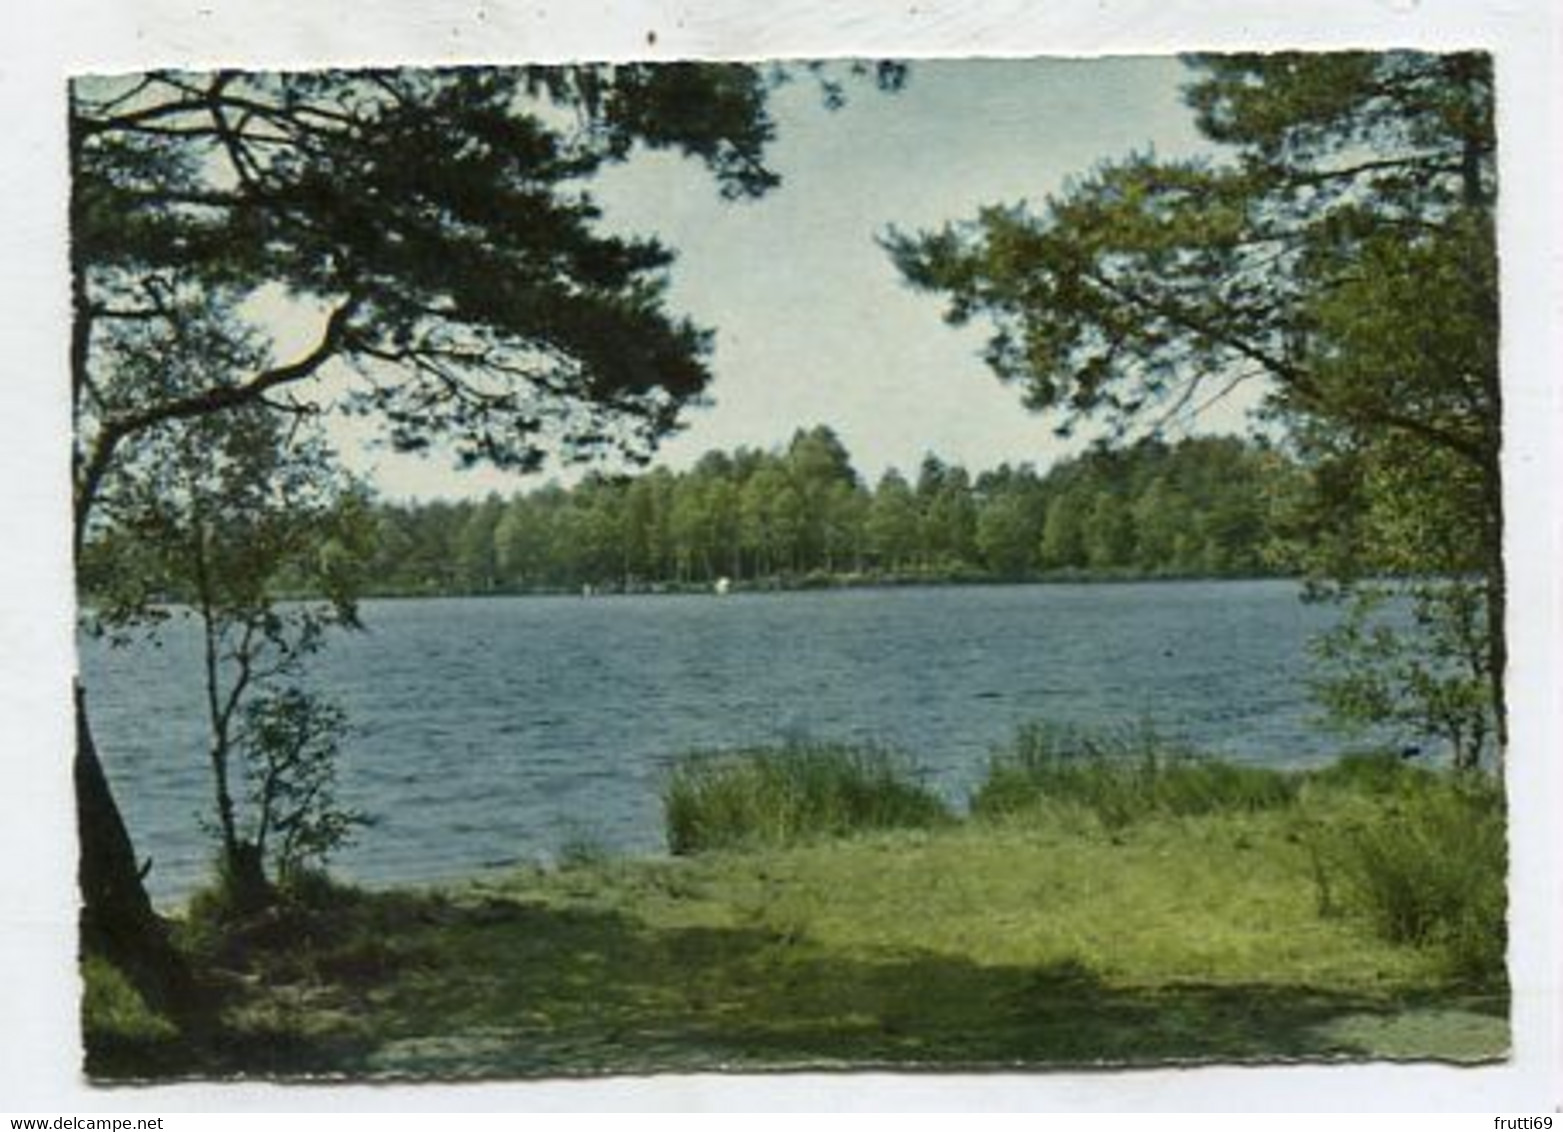
[[[833,579],[1244,577],[1288,572],[1304,472],[1200,436],[975,477],[935,455],[869,486],[827,427],[785,450],[708,452],[686,472],[588,475],[485,500],[377,503],[367,588],[538,593]]]

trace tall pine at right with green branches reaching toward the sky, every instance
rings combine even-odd
[[[1061,428],[1097,416],[1118,435],[1155,432],[1261,382],[1264,411],[1289,425],[1318,482],[1349,486],[1318,496],[1332,522],[1440,525],[1457,513],[1463,547],[1402,539],[1383,558],[1319,564],[1347,593],[1394,561],[1435,588],[1477,579],[1483,647],[1443,660],[1480,688],[1500,754],[1491,58],[1275,53],[1193,66],[1186,100],[1218,158],[1130,156],[1039,213],[988,208],[885,244],[908,281],[949,297],[952,322],[991,321],[989,366]],[[1391,463],[1400,475],[1355,475]],[[1404,682],[1394,693],[1416,694]],[[1455,744],[1458,765],[1479,754]]]

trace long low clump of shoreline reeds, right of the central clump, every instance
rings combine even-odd
[[[1028,724],[989,761],[971,808],[975,816],[1003,816],[1063,802],[1121,829],[1150,815],[1272,810],[1296,797],[1291,774],[1200,758],[1143,729]]]

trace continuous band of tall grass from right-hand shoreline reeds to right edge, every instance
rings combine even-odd
[[[1147,730],[1032,724],[972,796],[988,821],[1089,815],[1118,833],[1153,818],[1289,815],[1319,915],[1357,915],[1393,944],[1438,952],[1450,977],[1500,985],[1507,841],[1500,788],[1393,752],[1354,752],[1318,771],[1236,766],[1168,747]]]

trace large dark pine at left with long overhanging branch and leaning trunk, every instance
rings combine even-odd
[[[644,458],[705,386],[710,336],[664,306],[672,253],[605,235],[586,183],[663,149],[727,197],[766,192],[772,81],[680,64],[72,83],[78,560],[159,428],[238,410],[334,407],[399,449],[511,469]],[[156,993],[173,957],[77,704],[84,935]]]

